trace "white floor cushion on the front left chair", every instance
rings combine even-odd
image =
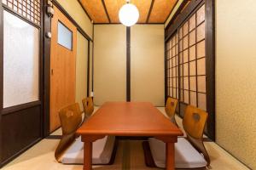
[[[98,139],[92,144],[92,164],[108,164],[114,148],[113,136],[106,136],[103,139]],[[63,164],[84,164],[84,143],[81,137],[67,149],[62,156]]]

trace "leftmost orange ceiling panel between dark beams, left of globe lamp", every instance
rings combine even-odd
[[[108,23],[102,0],[79,0],[95,23]]]

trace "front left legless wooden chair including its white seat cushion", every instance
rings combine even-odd
[[[87,103],[88,105],[91,104]],[[91,115],[92,111],[93,104],[92,109],[90,108],[90,112],[87,112],[87,114]],[[59,115],[61,119],[62,139],[55,150],[55,159],[63,164],[84,164],[84,143],[75,134],[82,122],[79,104],[76,103],[63,108]],[[113,164],[116,152],[115,146],[114,137],[106,136],[103,139],[96,140],[93,143],[92,164]]]

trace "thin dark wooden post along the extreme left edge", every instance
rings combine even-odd
[[[2,112],[3,112],[3,7],[0,4],[0,162],[2,161]],[[0,168],[2,163],[0,164]]]

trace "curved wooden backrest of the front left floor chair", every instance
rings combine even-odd
[[[76,139],[76,131],[82,122],[79,104],[68,105],[59,112],[62,138],[55,150],[55,159],[61,161],[61,156]]]

